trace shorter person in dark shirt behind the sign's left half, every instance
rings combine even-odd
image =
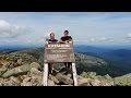
[[[48,39],[48,44],[56,44],[58,42],[57,39],[55,39],[55,33],[50,34],[50,38]],[[49,63],[49,72],[52,73],[55,71],[55,63]]]

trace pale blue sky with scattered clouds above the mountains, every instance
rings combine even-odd
[[[0,45],[44,45],[69,30],[75,45],[131,45],[131,12],[0,12]]]

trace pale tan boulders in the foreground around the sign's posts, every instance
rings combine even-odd
[[[0,86],[43,86],[43,70],[37,62],[31,64],[23,64],[9,69],[10,64],[4,63],[0,68]],[[79,86],[111,86],[114,82],[95,78],[96,74],[91,73],[91,77],[78,75]],[[94,76],[94,78],[93,78]],[[48,86],[72,86],[72,72],[62,68],[59,71],[53,71],[48,76]]]

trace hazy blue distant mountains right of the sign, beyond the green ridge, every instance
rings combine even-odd
[[[117,47],[117,46],[116,46]],[[78,46],[75,51],[84,52],[85,54],[92,53],[96,57],[106,59],[124,70],[131,71],[131,49],[130,47],[118,48],[96,48],[91,46]]]

